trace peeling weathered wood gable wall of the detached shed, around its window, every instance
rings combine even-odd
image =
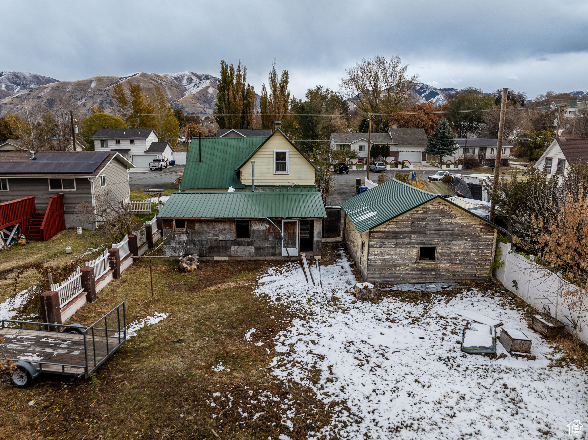
[[[366,281],[393,283],[487,280],[496,229],[435,199],[369,232]],[[437,246],[436,260],[417,260],[419,246]]]

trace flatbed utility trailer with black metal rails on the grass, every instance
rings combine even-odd
[[[88,377],[126,341],[125,303],[89,327],[0,321],[0,359],[18,368],[12,381],[26,388],[42,372],[75,378]]]

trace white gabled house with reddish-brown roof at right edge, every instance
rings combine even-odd
[[[588,139],[585,137],[557,137],[534,164],[535,167],[547,169],[553,176],[564,176],[571,164],[588,163]]]

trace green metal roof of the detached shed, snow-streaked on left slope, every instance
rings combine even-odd
[[[349,220],[355,226],[359,233],[374,229],[386,221],[395,219],[410,210],[413,210],[427,201],[439,197],[447,203],[458,207],[468,214],[485,221],[493,227],[494,223],[483,219],[476,214],[463,209],[461,206],[450,200],[443,199],[438,194],[427,193],[426,191],[415,188],[412,185],[392,179],[382,183],[372,189],[369,189],[358,196],[343,201],[340,204],[343,211],[349,216]]]

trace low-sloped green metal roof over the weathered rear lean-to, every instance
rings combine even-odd
[[[326,217],[320,193],[175,192],[158,217],[165,219],[259,219]]]

